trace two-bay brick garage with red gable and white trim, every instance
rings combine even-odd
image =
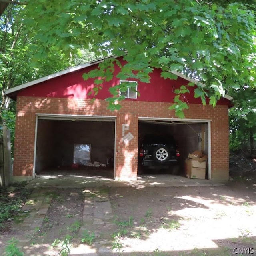
[[[190,93],[183,95],[189,106],[184,111],[186,118],[176,118],[169,110],[174,90],[199,82],[178,72],[173,72],[177,80],[164,79],[161,70],[155,69],[150,74],[150,84],[129,81],[136,84],[139,93],[128,90],[122,108],[110,111],[105,101],[111,96],[108,89],[124,82],[116,77],[119,68],[116,66],[114,78],[104,82],[93,102],[88,93],[93,90],[94,80],[82,78],[83,73],[97,68],[104,59],[5,92],[17,102],[14,180],[30,180],[56,170],[78,172],[78,166],[85,174],[90,169],[94,175],[136,180],[139,140],[149,132],[175,138],[180,150],[180,175],[184,175],[188,154],[200,150],[208,155],[206,178],[228,180],[231,97],[219,100],[215,108],[203,106],[193,97],[194,88],[188,87]],[[80,152],[84,154],[82,159]]]

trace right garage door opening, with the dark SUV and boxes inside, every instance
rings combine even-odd
[[[138,175],[173,174],[211,179],[209,134],[210,121],[139,118]],[[200,164],[187,160],[195,151],[207,156],[206,160]]]

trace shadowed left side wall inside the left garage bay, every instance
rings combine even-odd
[[[36,173],[54,164],[54,124],[52,120],[38,119],[36,138]]]

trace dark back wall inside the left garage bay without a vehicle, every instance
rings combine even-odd
[[[114,158],[115,123],[106,121],[54,121],[56,166],[73,163],[74,144],[91,144],[91,161],[106,164]]]

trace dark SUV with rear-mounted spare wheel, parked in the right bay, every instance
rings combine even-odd
[[[179,156],[176,142],[170,135],[147,134],[142,139],[138,160],[147,168],[168,168],[172,165],[177,172]]]

